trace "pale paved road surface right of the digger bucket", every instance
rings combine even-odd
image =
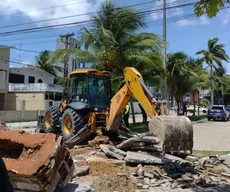
[[[230,151],[230,121],[210,121],[196,123],[194,149]]]

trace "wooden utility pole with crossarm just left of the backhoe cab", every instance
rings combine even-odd
[[[65,34],[65,35],[60,35],[61,37],[61,41],[63,43],[65,43],[65,49],[68,49],[69,48],[69,37],[72,37],[74,36],[75,33],[68,33],[68,34]],[[64,60],[64,75],[63,75],[63,92],[62,92],[62,99],[66,99],[66,95],[67,95],[67,82],[68,82],[68,59],[66,58]]]

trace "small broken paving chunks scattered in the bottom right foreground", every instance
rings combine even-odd
[[[139,164],[131,174],[117,175],[135,184],[135,192],[154,191],[156,188],[204,190],[220,185],[230,189],[230,166],[217,156],[201,160],[188,156],[186,160],[166,165]]]

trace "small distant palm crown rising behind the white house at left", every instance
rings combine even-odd
[[[36,65],[41,68],[42,70],[51,73],[52,75],[56,76],[56,70],[60,70],[60,67],[55,66],[50,62],[50,55],[51,51],[44,50],[42,51],[39,56],[36,56]]]

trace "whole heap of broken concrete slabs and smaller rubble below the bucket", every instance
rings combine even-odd
[[[198,160],[197,157],[187,156],[182,159],[161,154],[157,148],[154,149],[154,145],[158,143],[157,138],[146,136],[128,139],[116,147],[101,144],[100,148],[109,158],[123,160],[126,165],[131,163],[137,166],[131,173],[117,173],[117,176],[123,177],[124,181],[131,181],[137,192],[154,191],[159,187],[179,190],[227,185],[230,188],[230,164],[223,158],[209,156]],[[139,150],[137,151],[133,146],[138,146]],[[151,152],[146,148],[147,146],[150,146]],[[132,149],[135,152],[131,151]],[[96,186],[102,187],[102,185],[100,178]],[[104,185],[107,189],[107,184]]]

